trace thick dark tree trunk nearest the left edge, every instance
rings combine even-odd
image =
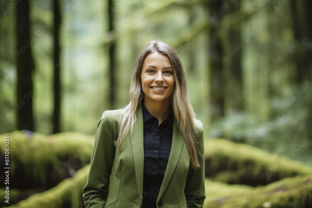
[[[32,85],[34,61],[29,35],[29,2],[23,0],[16,5],[16,34],[17,34],[17,96],[16,104],[21,106],[17,111],[17,129],[34,130],[32,113],[32,96],[36,92]],[[39,83],[40,85],[41,83]],[[43,84],[43,83],[42,83]]]

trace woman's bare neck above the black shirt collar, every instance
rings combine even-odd
[[[155,101],[144,97],[144,106],[152,116],[158,119],[159,124],[166,120],[170,113],[170,97],[163,101]]]

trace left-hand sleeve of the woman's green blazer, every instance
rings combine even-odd
[[[97,125],[90,171],[82,191],[86,208],[105,206],[114,157],[114,131],[110,116],[105,111]]]

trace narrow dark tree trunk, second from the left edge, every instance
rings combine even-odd
[[[61,110],[61,87],[60,87],[60,26],[61,12],[58,0],[53,0],[54,12],[54,113],[53,113],[53,133],[60,132],[60,110]]]

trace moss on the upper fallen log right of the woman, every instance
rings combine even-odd
[[[312,173],[312,167],[280,155],[225,139],[205,140],[206,175],[216,181],[246,184],[244,178],[268,184],[285,177]]]

